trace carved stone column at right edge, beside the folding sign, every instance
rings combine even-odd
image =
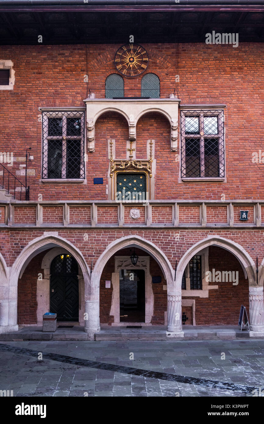
[[[249,287],[249,322],[250,332],[264,335],[264,301],[263,287]]]

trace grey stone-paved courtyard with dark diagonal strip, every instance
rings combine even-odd
[[[0,342],[0,390],[14,396],[251,397],[259,388],[264,340]]]

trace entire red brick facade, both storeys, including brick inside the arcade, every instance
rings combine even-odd
[[[88,45],[88,63],[84,45],[0,47],[0,59],[12,60],[15,70],[14,90],[0,90],[1,150],[13,152],[14,165],[9,168],[23,183],[25,177],[21,171],[24,167],[21,169],[20,165],[25,165],[23,158],[27,147],[31,146],[33,156],[28,162],[27,183],[32,203],[9,204],[6,216],[9,201],[0,201],[0,253],[6,265],[14,265],[23,249],[43,236],[45,231],[58,233],[58,237],[78,249],[90,270],[110,243],[131,234],[153,243],[167,258],[173,271],[176,260],[179,263],[189,248],[212,235],[241,245],[253,262],[256,264],[258,257],[260,264],[264,258],[264,206],[258,209],[257,204],[248,205],[246,201],[261,203],[264,198],[264,165],[252,162],[253,152],[264,148],[264,47],[261,43],[242,43],[239,49],[231,45],[207,46],[205,49],[202,43],[144,45],[150,57],[145,73],[158,75],[161,98],[169,98],[176,89],[182,105],[226,105],[224,181],[183,182],[179,161],[180,125],[178,150],[172,151],[170,122],[164,114],[152,111],[138,120],[133,144],[136,159],[148,159],[147,141],[155,140],[155,172],[151,181],[154,188],[150,205],[123,204],[121,207],[118,203],[111,203],[108,197],[111,189],[108,140],[115,140],[115,159],[126,159],[129,140],[128,122],[116,110],[97,118],[94,151],[88,151],[85,137],[83,182],[41,181],[42,119],[39,108],[84,107],[83,100],[88,96],[89,87],[97,99],[105,98],[106,77],[117,73],[113,59],[118,47]],[[86,73],[88,84],[84,82]],[[124,78],[126,97],[140,96],[141,78],[145,73],[137,78]],[[179,75],[179,82],[175,83],[175,75]],[[103,178],[103,184],[94,184],[94,178]],[[42,200],[46,203],[41,203]],[[194,204],[181,204],[181,201],[190,200],[194,200]],[[234,200],[246,203],[224,204]],[[151,204],[151,201],[160,204]],[[206,201],[215,204],[204,207],[202,202]],[[130,217],[134,207],[140,213],[136,220]],[[244,228],[239,219],[240,210],[249,211]],[[121,254],[128,252],[129,249],[123,249]],[[19,324],[36,324],[36,285],[38,273],[42,272],[43,256],[43,252],[37,254],[18,279]],[[187,296],[183,299],[195,299],[197,325],[236,325],[240,305],[249,308],[249,281],[245,279],[238,259],[228,251],[210,246],[208,260],[210,271],[213,268],[239,271],[239,284],[219,283],[217,290],[208,290],[207,298]],[[100,276],[101,323],[112,324],[114,321],[110,315],[112,285],[110,289],[105,287],[105,281],[111,280],[113,272],[114,256],[108,260]],[[152,256],[150,274],[162,277],[161,283],[152,285],[154,309],[151,324],[164,324],[167,311],[164,286],[167,282]],[[186,324],[192,324],[192,307],[184,306],[183,310],[189,318]]]

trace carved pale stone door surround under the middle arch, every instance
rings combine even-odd
[[[114,324],[120,323],[120,269],[141,269],[145,271],[145,324],[150,324],[154,311],[154,294],[152,289],[152,277],[150,275],[150,257],[139,256],[136,265],[132,265],[129,256],[114,257],[114,272],[112,273],[112,303],[110,315],[114,316]]]

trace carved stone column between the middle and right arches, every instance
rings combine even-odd
[[[174,337],[183,337],[181,323],[181,292],[170,293],[168,298],[168,328],[167,332],[174,333]]]

